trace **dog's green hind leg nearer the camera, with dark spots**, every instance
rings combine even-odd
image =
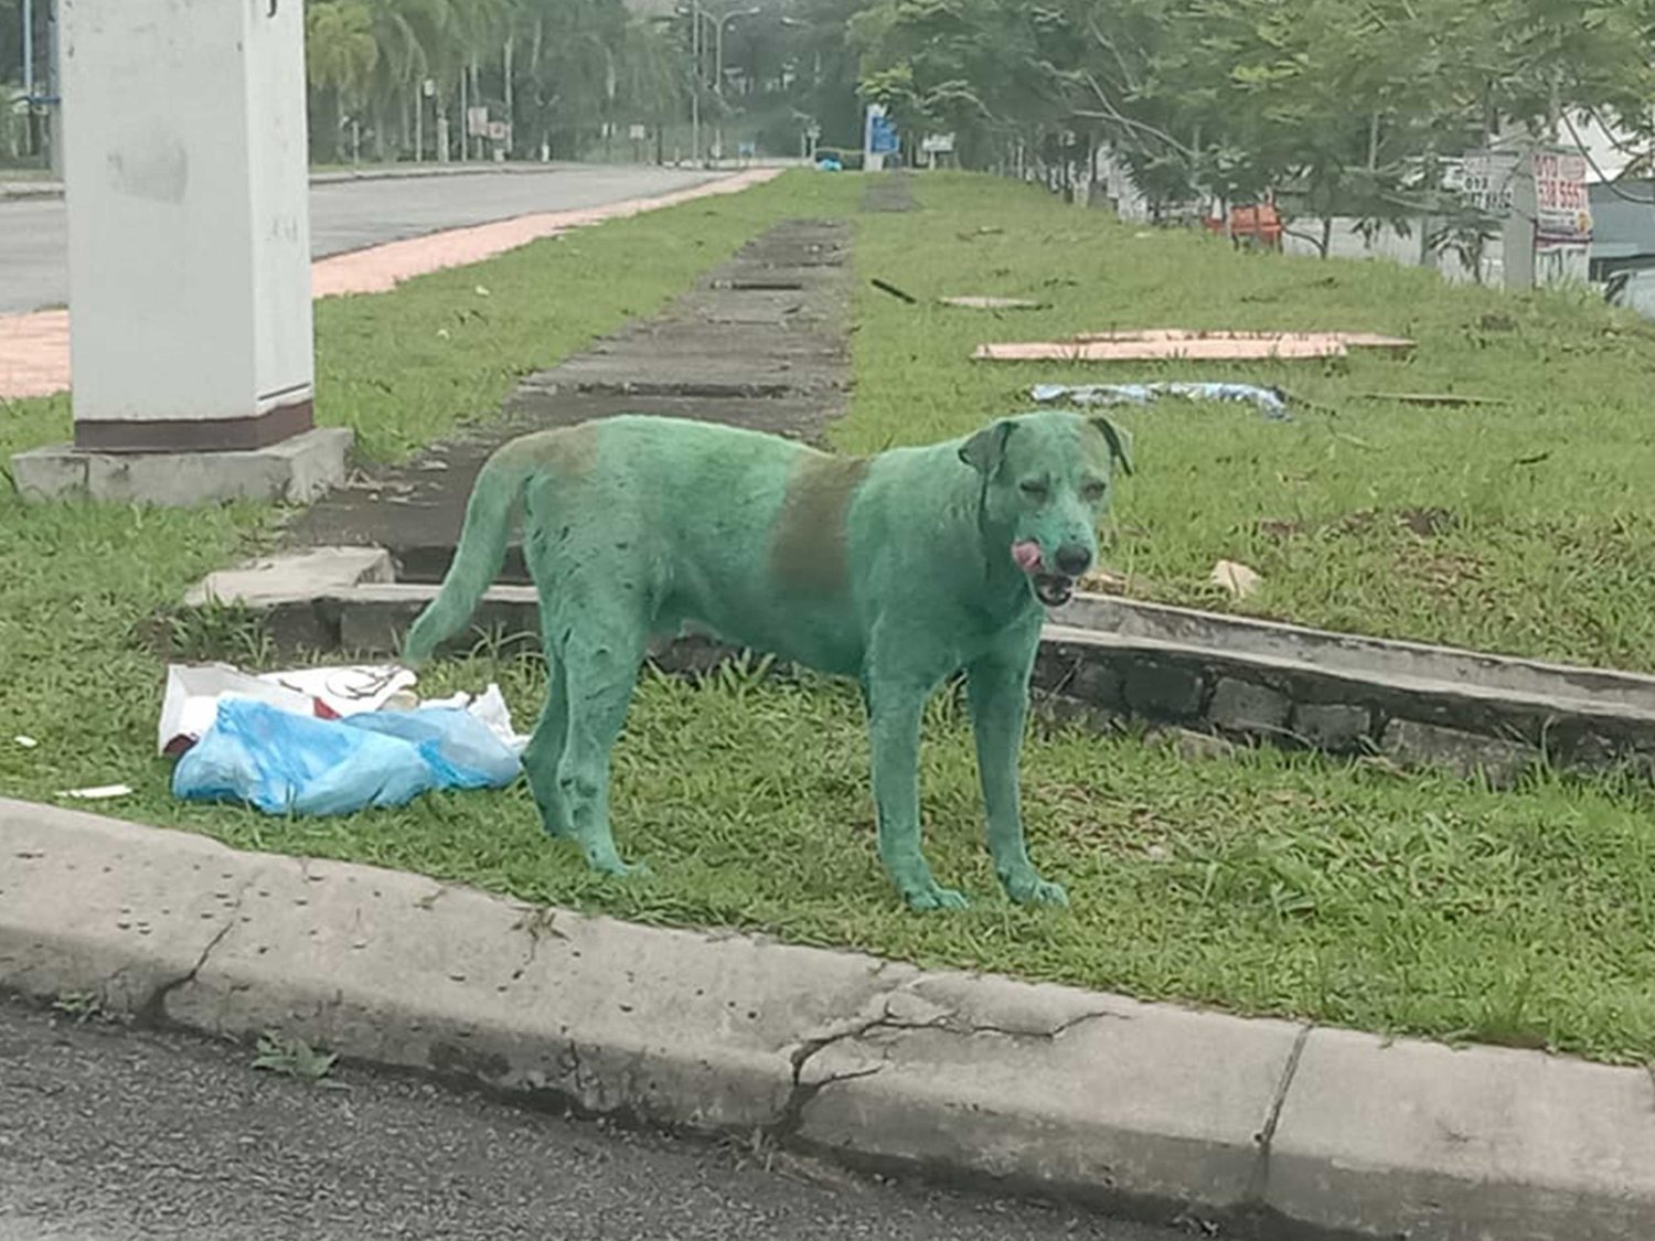
[[[621,860],[609,829],[609,751],[626,725],[645,639],[645,625],[631,609],[588,602],[559,652],[568,723],[558,793],[586,860],[612,875],[640,869]]]

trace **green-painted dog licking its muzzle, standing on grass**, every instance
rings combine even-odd
[[[483,465],[442,589],[409,630],[419,662],[500,573],[523,518],[549,692],[523,753],[549,834],[624,874],[609,751],[652,635],[692,624],[862,687],[879,855],[914,908],[955,908],[920,852],[920,715],[967,673],[988,849],[1013,900],[1066,903],[1029,862],[1018,751],[1043,604],[1067,602],[1127,442],[1043,410],[875,457],[626,415],[525,435]]]

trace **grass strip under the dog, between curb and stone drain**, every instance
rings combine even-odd
[[[543,693],[535,664],[487,657],[442,665],[425,688],[488,680],[520,720]],[[1038,731],[1028,831],[1041,867],[1069,885],[1066,912],[998,894],[955,698],[925,726],[925,846],[973,907],[919,917],[875,857],[854,690],[738,670],[640,685],[616,750],[614,816],[647,879],[601,879],[574,846],[548,842],[523,786],[283,821],[179,806],[164,764],[144,759],[136,807],[121,812],[642,922],[1380,1033],[1655,1057],[1647,791],[1541,773],[1493,793],[1274,751],[1192,764],[1135,738]],[[132,759],[108,774],[131,779]]]

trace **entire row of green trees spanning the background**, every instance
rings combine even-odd
[[[40,26],[46,0],[35,8]],[[1274,194],[1302,215],[1390,218],[1433,202],[1443,161],[1513,126],[1569,139],[1590,116],[1640,149],[1655,129],[1655,0],[700,8],[697,74],[688,0],[308,0],[313,154],[688,157],[698,81],[708,129],[728,124],[766,154],[796,152],[806,127],[859,149],[862,103],[877,101],[909,152],[952,132],[968,167],[1087,167],[1107,146],[1157,204]],[[0,79],[18,78],[18,13],[0,0]],[[468,132],[477,108],[510,137]]]

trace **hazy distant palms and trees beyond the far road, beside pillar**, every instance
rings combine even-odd
[[[708,131],[740,113],[743,132],[773,154],[796,151],[811,126],[856,137],[846,0],[698,8],[697,74],[688,3],[639,12],[624,0],[309,0],[311,147],[318,159],[463,159],[495,146],[531,159],[597,147],[665,157],[672,131],[688,157],[682,131],[697,76]],[[508,124],[510,137],[472,134],[467,109],[477,108]],[[631,144],[634,127],[642,149]]]

